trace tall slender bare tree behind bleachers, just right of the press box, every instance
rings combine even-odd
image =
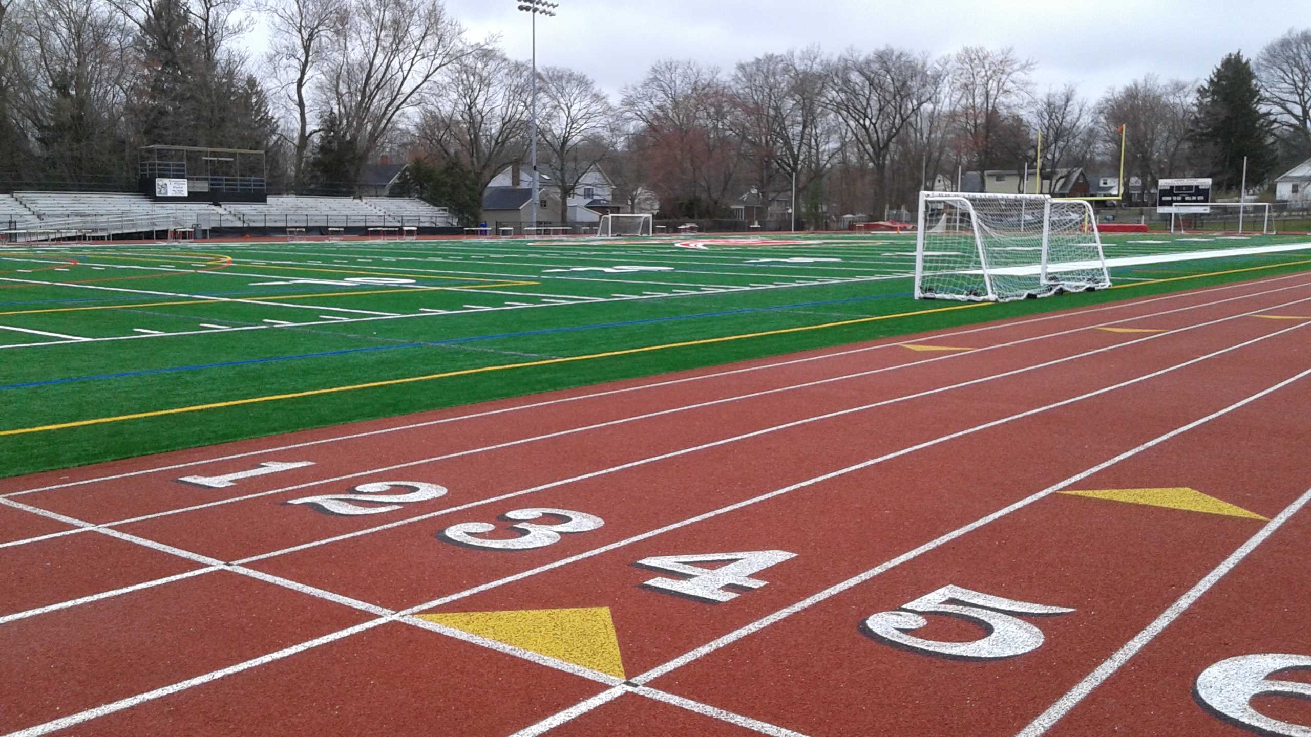
[[[347,0],[260,0],[271,35],[267,71],[291,105],[296,130],[291,140],[291,181],[305,184],[311,127],[311,85],[323,73],[333,39],[343,30]]]

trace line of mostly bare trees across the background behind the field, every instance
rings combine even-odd
[[[240,43],[256,24],[261,56]],[[767,207],[796,182],[798,215],[822,224],[1023,169],[1040,135],[1045,172],[1112,176],[1127,126],[1145,191],[1171,176],[1235,190],[1244,156],[1249,184],[1311,156],[1311,29],[1205,80],[1145,75],[1100,97],[1040,90],[1036,68],[1012,49],[810,46],[732,70],[661,60],[612,97],[545,67],[540,170],[568,199],[599,165],[619,205],[653,195],[673,218],[726,216],[743,193]],[[402,190],[472,220],[498,172],[527,169],[531,87],[439,0],[0,0],[0,178],[130,181],[136,148],[163,143],[264,149],[274,190],[350,191],[388,157],[412,163]]]

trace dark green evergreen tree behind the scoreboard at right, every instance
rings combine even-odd
[[[1252,64],[1240,51],[1226,55],[1197,90],[1193,140],[1219,189],[1238,189],[1247,156],[1247,181],[1265,180],[1277,163],[1273,123],[1261,110],[1261,90]]]

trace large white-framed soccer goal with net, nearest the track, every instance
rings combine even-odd
[[[1082,199],[919,195],[915,299],[1007,302],[1108,286],[1097,219]]]

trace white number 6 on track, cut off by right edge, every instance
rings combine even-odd
[[[1270,719],[1252,708],[1256,696],[1311,699],[1311,683],[1273,681],[1270,677],[1291,669],[1311,669],[1311,656],[1260,653],[1222,660],[1197,677],[1197,699],[1221,715],[1261,734],[1311,737],[1311,725]]]

